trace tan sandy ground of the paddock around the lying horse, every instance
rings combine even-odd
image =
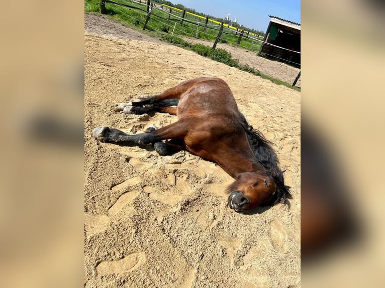
[[[84,73],[85,287],[300,287],[299,92],[94,15],[85,15]],[[224,79],[276,143],[291,210],[235,213],[223,192],[233,179],[216,165],[90,137],[100,125],[136,133],[176,121],[112,108],[201,76]]]

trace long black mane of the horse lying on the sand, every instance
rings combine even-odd
[[[239,112],[239,116],[241,118],[241,125],[246,131],[250,147],[254,152],[254,156],[265,169],[263,174],[271,177],[277,186],[277,191],[270,204],[275,205],[278,202],[281,202],[290,208],[288,199],[293,199],[293,196],[289,192],[290,187],[284,185],[284,171],[279,169],[278,157],[272,149],[274,143],[267,140],[260,131],[254,129],[241,112]]]

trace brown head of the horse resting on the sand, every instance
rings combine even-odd
[[[277,185],[273,178],[257,172],[244,172],[228,187],[228,206],[236,212],[250,210],[276,199]]]

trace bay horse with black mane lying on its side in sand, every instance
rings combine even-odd
[[[224,80],[187,80],[141,101],[117,104],[116,110],[169,113],[178,120],[135,135],[101,126],[92,131],[94,138],[119,145],[153,144],[161,156],[185,150],[217,163],[235,179],[227,192],[228,206],[236,212],[278,202],[290,207],[287,199],[292,195],[284,185],[272,143],[247,123]]]

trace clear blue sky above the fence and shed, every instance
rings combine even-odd
[[[197,12],[230,20],[237,18],[238,24],[247,28],[266,31],[270,18],[276,16],[285,20],[301,23],[300,0],[169,0],[173,4],[195,9]]]

